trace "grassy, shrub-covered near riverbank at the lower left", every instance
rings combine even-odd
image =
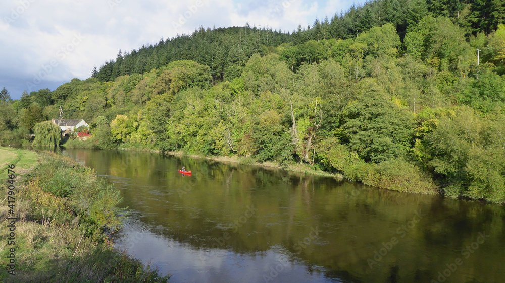
[[[0,281],[168,280],[112,248],[108,235],[121,227],[125,211],[117,204],[122,198],[93,170],[57,154],[7,148],[0,148],[0,164],[3,184],[9,178],[8,164],[15,164],[16,175],[14,211],[8,206],[7,189],[0,203]],[[8,217],[17,218],[15,245],[9,245]],[[14,272],[8,256],[14,256]]]

